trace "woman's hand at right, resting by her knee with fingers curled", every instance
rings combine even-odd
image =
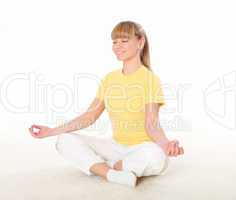
[[[178,140],[172,140],[172,141],[162,141],[158,143],[158,145],[163,149],[165,154],[167,156],[178,156],[181,154],[184,154],[183,147],[179,147],[179,141]]]

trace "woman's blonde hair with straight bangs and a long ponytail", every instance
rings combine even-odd
[[[123,37],[132,38],[134,36],[136,36],[138,39],[140,39],[141,37],[145,38],[145,44],[140,53],[140,59],[142,64],[145,67],[147,67],[150,71],[152,71],[150,64],[150,52],[149,52],[147,35],[140,24],[133,21],[122,21],[119,22],[111,32],[112,40]]]

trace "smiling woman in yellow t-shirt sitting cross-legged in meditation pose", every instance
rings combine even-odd
[[[159,109],[165,101],[160,79],[150,68],[145,31],[135,22],[123,21],[111,37],[123,67],[106,74],[87,111],[65,125],[32,125],[29,131],[35,138],[58,135],[57,151],[85,174],[136,186],[138,177],[163,174],[168,157],[184,150],[178,140],[166,137],[159,124]],[[112,138],[73,133],[93,124],[105,108]]]

